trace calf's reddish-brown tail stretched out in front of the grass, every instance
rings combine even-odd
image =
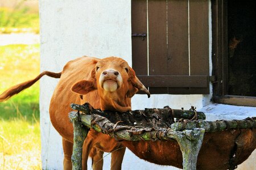
[[[60,73],[53,73],[53,72],[50,72],[50,71],[44,71],[43,73],[36,76],[35,79],[28,80],[27,82],[17,84],[15,86],[9,88],[8,90],[6,90],[5,92],[3,92],[0,95],[0,102],[8,100],[11,96],[16,95],[19,92],[23,91],[24,89],[32,86],[35,82],[37,82],[44,75],[48,75],[48,76],[51,76],[53,78],[60,78],[61,72]]]

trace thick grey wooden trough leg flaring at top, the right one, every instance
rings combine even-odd
[[[204,129],[183,130],[177,132],[176,141],[179,143],[183,156],[183,169],[196,170],[197,156],[204,139]]]

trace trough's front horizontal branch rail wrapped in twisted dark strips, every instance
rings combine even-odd
[[[72,118],[77,114],[77,112],[70,112],[69,118]],[[100,115],[88,115],[80,114],[81,122],[83,125],[88,126],[98,132],[108,134],[110,137],[117,139],[118,141],[156,141],[156,140],[170,140],[176,139],[177,135],[185,135],[188,139],[195,140],[197,138],[197,133],[192,130],[183,130],[177,133],[171,128],[158,128],[158,127],[148,127],[144,128],[142,126],[122,126],[113,124]],[[199,129],[199,128],[194,128]],[[195,137],[194,137],[195,136]]]

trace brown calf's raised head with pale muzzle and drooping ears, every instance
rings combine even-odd
[[[88,80],[81,80],[72,86],[72,91],[86,95],[97,90],[101,109],[126,112],[131,109],[131,97],[137,91],[150,93],[139,81],[135,72],[122,58],[108,57],[100,59],[91,71]]]

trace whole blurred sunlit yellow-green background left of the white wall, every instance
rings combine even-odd
[[[31,34],[39,37],[38,1],[0,1],[0,94],[39,74]],[[42,169],[39,116],[39,82],[0,103],[0,169]]]

